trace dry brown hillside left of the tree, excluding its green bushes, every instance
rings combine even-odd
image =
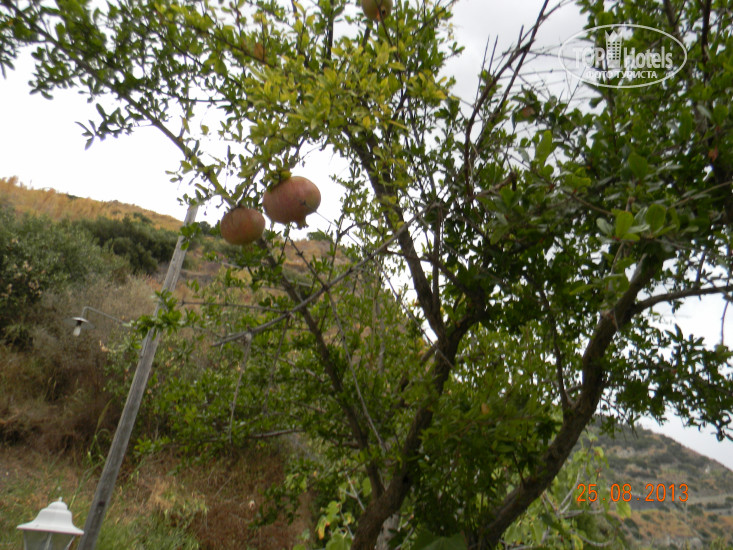
[[[56,221],[107,216],[121,220],[140,214],[161,229],[180,228],[178,220],[133,205],[29,190],[14,180],[0,180],[0,189],[0,206],[18,213],[43,214]],[[49,224],[41,226],[60,232]],[[202,246],[191,248],[195,269],[185,278],[213,277],[220,264],[204,262]],[[39,247],[28,250],[35,253]],[[99,251],[84,250],[100,258]],[[116,265],[111,256],[101,257]],[[114,320],[128,322],[150,314],[155,307],[152,291],[160,288],[165,269],[161,264],[152,275],[115,270],[81,285],[49,288],[23,312],[18,326],[27,337],[22,345],[0,340],[0,549],[22,546],[16,526],[59,497],[69,505],[74,523],[84,525],[124,403],[124,395],[119,396],[126,392],[130,366],[135,364],[134,357],[125,361],[115,378],[110,348],[128,341],[130,332]],[[179,285],[179,295],[187,290]],[[94,326],[74,336],[65,321],[86,306],[94,308],[88,315]],[[110,387],[113,378],[121,383],[121,391]],[[133,439],[99,550],[292,546],[310,526],[307,503],[293,524],[276,518],[270,525],[253,526],[262,493],[282,483],[288,454],[288,441],[278,441],[239,449],[215,461],[184,464],[168,449],[143,455]]]

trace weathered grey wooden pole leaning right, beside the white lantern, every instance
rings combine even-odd
[[[188,207],[186,212],[186,219],[183,225],[190,225],[196,219],[196,212],[198,211],[198,205],[192,204]],[[181,273],[181,267],[183,266],[183,259],[186,256],[186,249],[183,247],[184,237],[181,235],[178,237],[176,243],[176,249],[173,252],[171,263],[168,266],[168,273],[165,276],[163,282],[163,291],[173,291],[178,282],[178,276]],[[158,312],[162,308],[162,304],[159,303],[155,308],[154,316],[157,317]],[[77,550],[94,550],[97,545],[97,538],[99,537],[99,531],[102,527],[102,521],[104,515],[107,512],[107,506],[112,498],[112,492],[114,490],[117,476],[120,473],[120,467],[122,466],[122,460],[125,457],[127,451],[127,445],[130,442],[130,436],[132,435],[132,429],[135,426],[135,419],[137,413],[140,410],[140,403],[142,402],[143,395],[145,394],[145,386],[147,386],[148,378],[150,376],[150,370],[153,366],[153,359],[155,358],[155,352],[158,349],[159,334],[155,329],[151,329],[145,336],[143,341],[142,351],[140,353],[140,360],[138,361],[137,368],[135,369],[135,376],[132,379],[130,385],[130,391],[127,394],[127,401],[125,407],[122,409],[122,416],[117,424],[117,430],[115,431],[114,439],[112,439],[112,446],[107,454],[107,460],[104,463],[104,469],[102,475],[99,478],[97,484],[97,490],[92,500],[92,506],[89,509],[89,515],[87,516],[86,523],[84,524],[84,535],[79,541]]]

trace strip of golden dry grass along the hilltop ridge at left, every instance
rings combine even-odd
[[[22,213],[45,214],[56,221],[93,220],[100,216],[121,220],[133,213],[140,213],[150,219],[153,226],[159,229],[178,231],[182,223],[172,216],[158,214],[132,204],[118,201],[100,202],[57,193],[53,189],[29,189],[19,183],[15,177],[0,178],[0,204],[9,205]]]

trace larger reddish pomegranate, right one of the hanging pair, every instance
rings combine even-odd
[[[321,192],[316,184],[300,176],[292,176],[265,191],[262,206],[265,214],[274,222],[295,222],[305,227],[305,217],[321,204]]]

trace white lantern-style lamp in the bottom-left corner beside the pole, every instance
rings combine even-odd
[[[38,512],[36,519],[18,525],[24,550],[67,550],[84,531],[71,522],[71,512],[61,499]]]

